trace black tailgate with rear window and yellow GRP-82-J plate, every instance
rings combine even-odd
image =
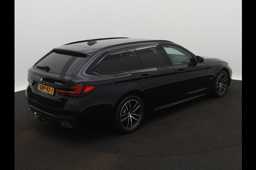
[[[28,77],[34,81],[30,85],[30,97],[49,107],[63,108],[67,96],[56,89],[68,89],[70,79],[89,57],[86,54],[54,50],[40,59],[28,70]]]

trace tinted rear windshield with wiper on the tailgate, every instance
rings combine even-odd
[[[51,73],[74,76],[74,72],[85,60],[86,54],[67,51],[51,51],[46,57],[35,64],[34,68]]]

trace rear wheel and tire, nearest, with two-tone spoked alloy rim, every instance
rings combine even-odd
[[[143,121],[145,107],[140,97],[131,95],[119,102],[112,122],[114,130],[122,133],[135,131]]]

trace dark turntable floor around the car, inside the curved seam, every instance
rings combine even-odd
[[[140,127],[129,134],[100,122],[74,129],[35,122],[31,111],[28,119],[47,141],[82,150],[131,155],[202,152],[241,142],[241,92],[230,89],[220,98],[202,96],[147,113]]]

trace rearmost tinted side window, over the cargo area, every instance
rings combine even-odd
[[[96,65],[96,71],[100,73],[127,71],[126,54],[126,50],[108,54],[98,65]]]

